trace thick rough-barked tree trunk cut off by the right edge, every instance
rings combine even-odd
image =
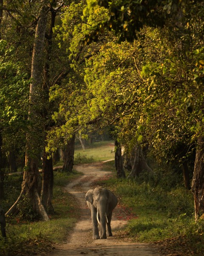
[[[195,221],[204,215],[204,137],[198,138],[192,179]]]

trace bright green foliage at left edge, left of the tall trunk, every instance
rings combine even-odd
[[[3,150],[14,144],[24,148],[27,127],[29,79],[20,61],[13,61],[14,47],[0,41],[0,130]],[[13,148],[14,150],[14,148]]]

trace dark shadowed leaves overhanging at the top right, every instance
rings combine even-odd
[[[108,19],[92,27],[85,35],[84,41],[87,43],[95,40],[104,27],[115,32],[119,38],[118,42],[133,41],[138,38],[138,33],[144,25],[163,27],[180,9],[193,10],[192,7],[201,2],[200,0],[88,0],[90,9],[97,4],[108,9]]]

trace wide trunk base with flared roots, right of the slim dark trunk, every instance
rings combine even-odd
[[[152,169],[147,165],[146,160],[142,152],[142,148],[136,146],[133,149],[133,157],[131,161],[132,171],[128,175],[128,178],[136,178],[142,171],[153,172]]]

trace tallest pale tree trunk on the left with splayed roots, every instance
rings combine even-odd
[[[45,5],[46,2],[44,1]],[[19,198],[15,204],[8,210],[6,215],[11,215],[17,212],[17,204],[22,199],[23,195],[26,195],[32,203],[33,210],[36,212],[44,221],[49,220],[47,212],[42,205],[40,200],[40,175],[38,170],[38,157],[40,155],[42,145],[43,129],[42,129],[42,118],[40,117],[39,110],[41,106],[41,96],[42,96],[42,67],[43,67],[43,50],[44,50],[44,40],[45,40],[45,29],[47,24],[47,12],[48,5],[42,6],[40,11],[40,18],[37,22],[33,55],[32,55],[32,65],[31,65],[31,79],[32,83],[30,85],[30,109],[28,113],[29,122],[31,123],[30,131],[27,134],[27,144],[26,144],[26,166],[27,170],[23,175],[22,191]]]

